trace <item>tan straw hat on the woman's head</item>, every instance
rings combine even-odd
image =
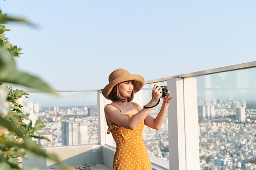
[[[109,99],[109,94],[113,87],[118,83],[133,80],[134,93],[138,92],[144,85],[144,78],[140,75],[131,75],[129,71],[123,68],[114,70],[109,77],[109,84],[104,87],[102,94],[106,99]]]

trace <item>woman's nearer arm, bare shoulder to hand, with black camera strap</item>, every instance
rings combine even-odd
[[[161,97],[161,89],[159,89],[159,85],[154,85],[152,90],[152,100],[146,105],[146,107],[154,106],[157,104],[159,98]],[[132,116],[131,118],[125,116],[120,113],[114,106],[106,105],[104,108],[105,116],[107,119],[111,120],[114,124],[124,127],[126,129],[136,129],[137,126],[141,124],[141,122],[146,118],[148,113],[152,108],[141,109],[137,114]]]

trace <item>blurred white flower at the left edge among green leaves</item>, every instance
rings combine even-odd
[[[0,113],[3,114],[3,116],[6,116],[8,114],[8,109],[10,108],[10,103],[7,101],[7,96],[9,92],[7,91],[7,88],[5,85],[0,86]]]

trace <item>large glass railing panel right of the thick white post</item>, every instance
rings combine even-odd
[[[256,68],[197,77],[201,169],[254,169]]]

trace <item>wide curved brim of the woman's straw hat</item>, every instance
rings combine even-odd
[[[103,96],[110,100],[109,94],[112,91],[113,87],[117,85],[118,83],[126,82],[133,80],[133,86],[134,86],[134,93],[138,92],[143,86],[144,86],[144,78],[140,75],[128,75],[128,76],[123,76],[118,79],[113,80],[110,82],[108,85],[106,85],[103,90],[102,94]]]

